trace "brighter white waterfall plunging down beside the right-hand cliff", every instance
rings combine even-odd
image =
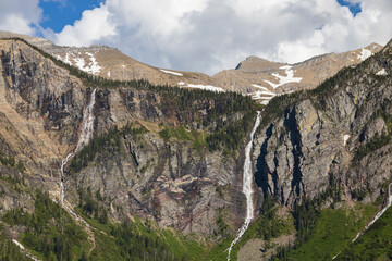
[[[252,189],[252,181],[253,181],[253,178],[252,177],[253,177],[253,175],[252,175],[250,152],[252,152],[254,136],[255,136],[256,129],[260,125],[260,120],[261,120],[261,114],[260,114],[260,112],[257,112],[255,126],[254,126],[254,128],[252,129],[252,133],[250,133],[250,140],[246,145],[246,148],[245,148],[245,162],[244,162],[244,174],[243,174],[243,192],[245,194],[245,197],[246,197],[246,219],[245,219],[244,224],[241,226],[237,236],[231,243],[231,245],[230,245],[230,247],[228,249],[229,250],[228,261],[230,260],[230,253],[231,253],[231,250],[232,250],[233,246],[244,235],[244,233],[246,232],[246,229],[249,226],[250,221],[254,217],[254,207],[253,207],[253,199],[252,199],[252,194],[253,194],[253,189]]]

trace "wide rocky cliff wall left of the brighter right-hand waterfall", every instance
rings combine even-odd
[[[148,217],[198,237],[212,231],[212,241],[242,222],[236,159],[256,114],[249,98],[106,80],[20,39],[0,40],[0,47],[2,173],[25,178],[21,192],[1,195],[2,214],[20,208],[32,214],[34,187],[60,200],[61,161],[74,151],[84,108],[98,87],[95,138],[65,166],[68,206],[86,220],[105,221],[107,213],[112,222]],[[88,191],[100,195],[94,210]],[[229,224],[224,231],[218,217]]]

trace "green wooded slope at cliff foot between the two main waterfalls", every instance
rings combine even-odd
[[[197,260],[205,248],[149,220],[111,223],[99,191],[79,189],[77,212],[95,231],[96,248],[90,260]]]

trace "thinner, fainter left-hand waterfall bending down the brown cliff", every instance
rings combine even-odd
[[[91,98],[90,98],[90,102],[88,103],[88,105],[83,110],[83,120],[82,120],[82,129],[81,129],[81,135],[79,138],[77,140],[77,145],[76,145],[76,149],[74,152],[71,152],[70,154],[68,154],[65,157],[65,159],[62,160],[61,162],[61,182],[60,182],[60,189],[61,189],[61,204],[71,213],[73,214],[76,219],[78,219],[78,216],[64,203],[64,198],[65,198],[65,189],[64,189],[64,184],[63,184],[63,178],[64,178],[64,166],[66,165],[66,163],[72,159],[72,157],[74,156],[74,153],[78,152],[85,145],[88,144],[88,141],[91,139],[93,137],[93,124],[94,124],[94,113],[93,113],[93,109],[94,109],[94,104],[95,104],[95,94],[96,94],[97,89],[94,89],[91,92]]]

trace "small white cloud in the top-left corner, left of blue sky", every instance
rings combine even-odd
[[[0,0],[0,30],[34,35],[37,33],[42,10],[38,0]]]

